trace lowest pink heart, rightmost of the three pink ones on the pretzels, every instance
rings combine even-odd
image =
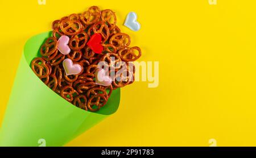
[[[96,85],[102,85],[102,86],[110,86],[112,84],[112,78],[105,75],[104,69],[99,69],[95,73],[96,76]]]

